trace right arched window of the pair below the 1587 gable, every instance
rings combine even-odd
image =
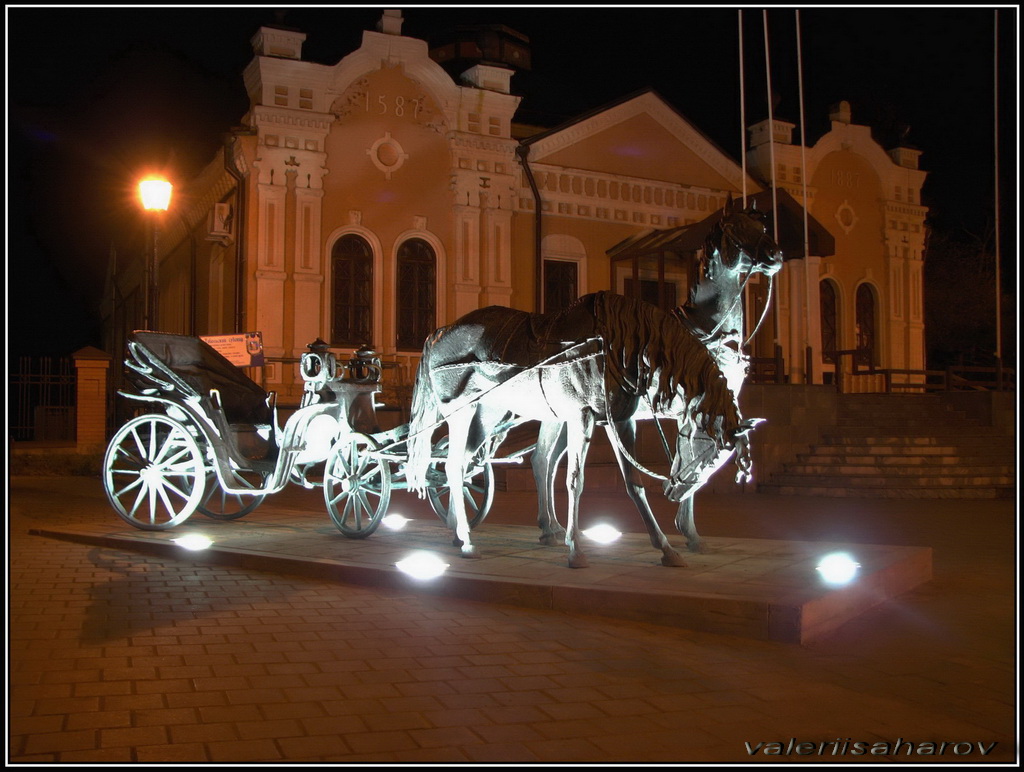
[[[410,239],[398,247],[397,298],[395,303],[398,348],[420,350],[437,327],[437,259],[422,239]]]

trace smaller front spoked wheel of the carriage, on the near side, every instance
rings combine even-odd
[[[380,444],[353,432],[331,448],[324,468],[324,499],[338,530],[366,539],[380,525],[391,502],[391,465],[373,453]]]

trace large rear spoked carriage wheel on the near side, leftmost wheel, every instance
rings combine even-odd
[[[103,488],[118,515],[142,530],[188,519],[206,487],[203,451],[179,421],[160,414],[131,419],[103,457]]]

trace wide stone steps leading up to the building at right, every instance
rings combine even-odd
[[[1002,499],[1016,491],[1014,437],[938,395],[844,395],[838,421],[758,490],[872,499]]]

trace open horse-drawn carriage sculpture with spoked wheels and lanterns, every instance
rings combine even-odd
[[[380,360],[369,349],[339,363],[316,340],[299,360],[302,401],[280,425],[276,398],[200,338],[137,331],[125,360],[140,403],[111,439],[103,483],[117,514],[143,530],[166,530],[195,512],[233,520],[289,484],[323,487],[331,520],[346,537],[373,533],[391,491],[402,489],[409,425],[381,431]],[[427,499],[447,522],[441,465],[446,437],[433,443]],[[531,448],[471,465],[462,495],[475,527],[494,499],[493,463],[517,463]]]

